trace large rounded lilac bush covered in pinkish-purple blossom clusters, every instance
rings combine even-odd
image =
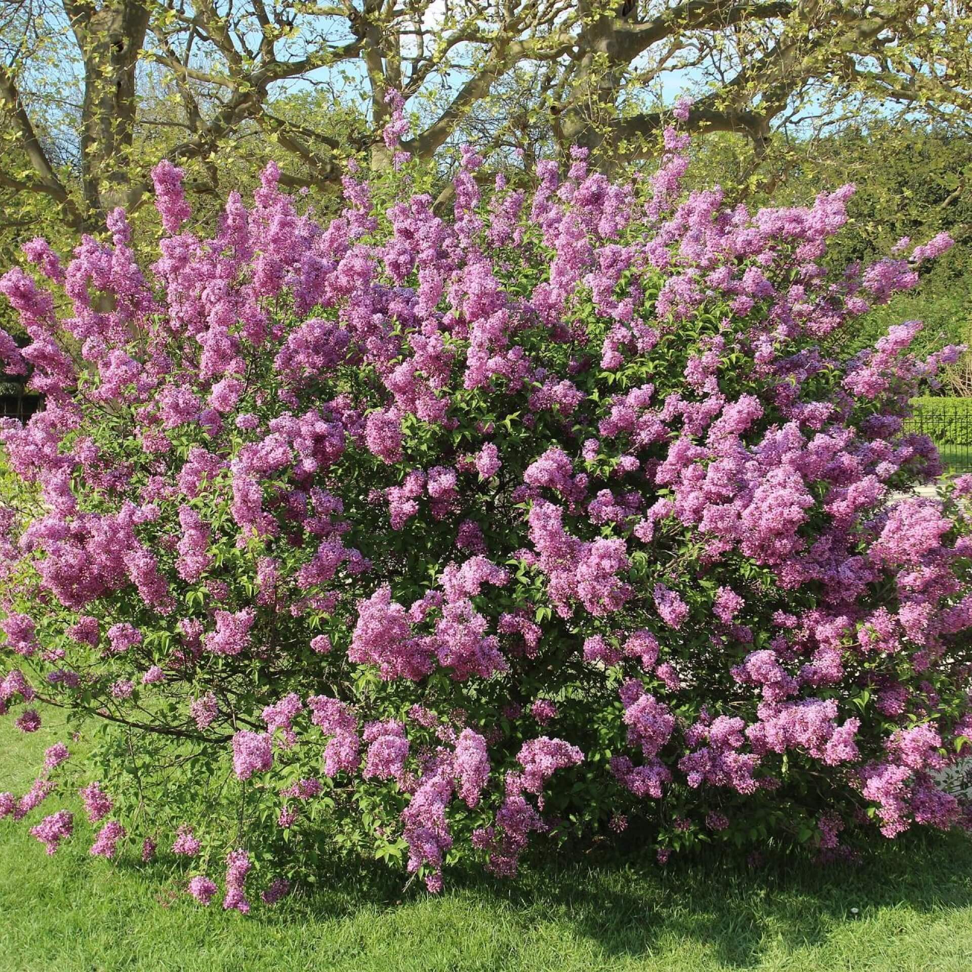
[[[0,420],[0,713],[120,734],[71,756],[92,854],[157,843],[203,905],[225,860],[246,913],[329,848],[436,890],[637,820],[661,861],[972,824],[972,485],[894,499],[939,471],[902,419],[958,349],[822,342],[950,241],[835,268],[851,188],[749,212],[683,191],[685,148],[531,195],[467,150],[449,218],[401,157],[328,225],[271,165],[213,235],[166,164],[151,267],[116,211],[0,279],[46,399]],[[28,825],[53,852],[73,818]]]

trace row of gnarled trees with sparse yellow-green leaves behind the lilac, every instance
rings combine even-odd
[[[586,145],[607,169],[654,154],[681,89],[689,128],[746,135],[758,164],[775,132],[851,110],[964,124],[969,26],[961,3],[913,0],[15,0],[0,208],[20,222],[41,196],[94,229],[144,202],[159,158],[212,192],[229,150],[327,190],[349,155],[431,159],[465,126],[528,158]],[[399,146],[380,136],[393,89],[413,121]]]

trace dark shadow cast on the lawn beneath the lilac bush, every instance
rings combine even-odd
[[[960,834],[905,835],[858,864],[781,857],[758,870],[715,850],[673,858],[666,868],[643,851],[624,860],[616,849],[578,856],[584,859],[528,866],[514,881],[452,872],[438,900],[452,899],[524,933],[552,923],[595,942],[607,958],[689,942],[729,967],[757,963],[770,942],[787,951],[820,945],[842,924],[872,920],[885,909],[946,916],[972,905],[972,841]],[[345,871],[322,884],[259,920],[288,925],[350,918],[362,909],[384,915],[434,907],[421,887],[403,891],[398,876],[377,868]],[[434,919],[431,911],[427,917]]]

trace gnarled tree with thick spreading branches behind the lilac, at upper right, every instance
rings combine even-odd
[[[894,110],[967,115],[969,12],[962,3],[579,0],[575,55],[558,81],[561,137],[606,162],[653,154],[674,78],[693,93],[686,125],[745,134]]]

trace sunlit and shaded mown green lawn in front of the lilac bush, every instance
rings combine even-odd
[[[51,731],[0,722],[0,789],[29,785]],[[960,836],[888,844],[858,866],[757,871],[593,851],[513,882],[453,876],[436,898],[363,868],[249,918],[194,905],[170,862],[106,862],[89,844],[79,822],[47,857],[27,826],[0,821],[2,972],[972,969]]]

